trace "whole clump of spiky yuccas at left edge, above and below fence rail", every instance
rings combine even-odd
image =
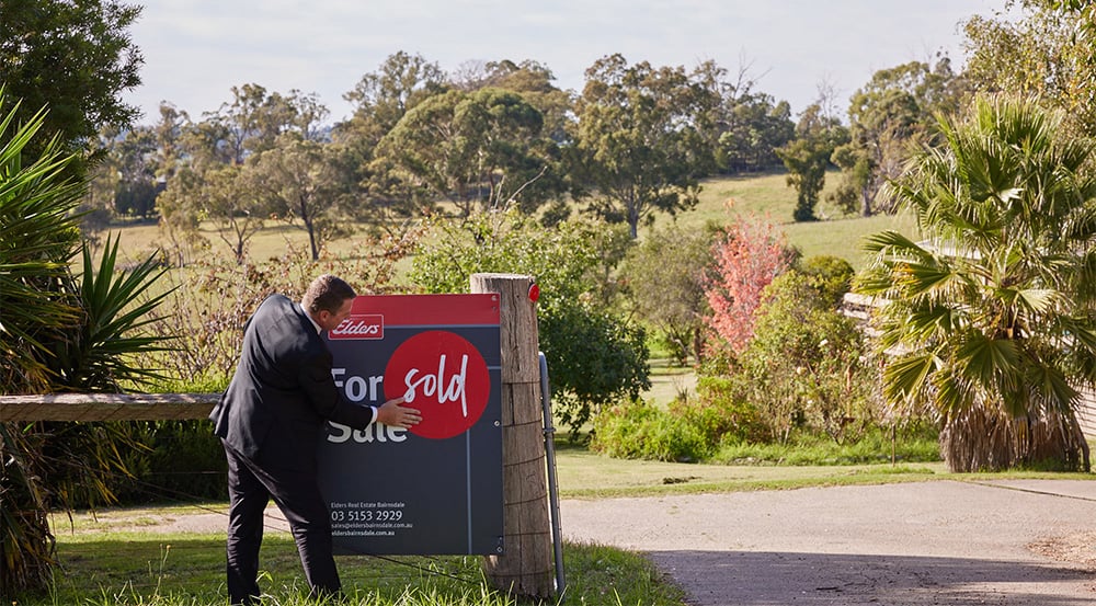
[[[0,111],[5,98],[0,88]],[[153,261],[117,271],[117,242],[96,267],[76,214],[85,183],[57,141],[27,162],[43,113],[0,114],[0,392],[117,391],[155,376],[132,355],[162,348],[139,334],[162,297]],[[83,274],[70,263],[83,252]],[[136,331],[136,332],[135,332]],[[130,427],[113,423],[0,424],[0,596],[41,590],[54,550],[47,512],[78,499],[110,501],[107,473],[124,472]]]

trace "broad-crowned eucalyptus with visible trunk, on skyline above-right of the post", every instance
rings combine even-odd
[[[573,194],[596,215],[626,222],[632,238],[655,213],[695,206],[699,178],[713,167],[719,92],[710,71],[628,65],[619,54],[595,61],[574,103]]]

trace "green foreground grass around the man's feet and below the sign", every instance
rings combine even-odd
[[[666,583],[643,557],[619,549],[567,544],[567,605],[682,606],[680,588]],[[224,537],[90,530],[58,534],[58,567],[48,595],[20,596],[19,606],[70,604],[126,606],[222,606]],[[487,583],[479,556],[339,558],[345,606],[513,606],[527,599]],[[307,597],[296,547],[284,533],[263,542],[263,604],[334,604]]]

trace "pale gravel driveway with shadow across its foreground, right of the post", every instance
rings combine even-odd
[[[1096,481],[935,481],[566,500],[698,606],[1096,604]]]

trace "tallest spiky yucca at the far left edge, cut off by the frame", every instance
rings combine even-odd
[[[0,108],[4,105],[0,89]],[[12,108],[0,119],[0,388],[4,393],[48,389],[47,344],[80,318],[75,297],[60,288],[80,242],[73,210],[82,187],[65,176],[71,157],[55,142],[30,165],[22,158],[43,116],[39,112],[26,124],[15,125]],[[48,495],[35,455],[39,445],[19,424],[0,424],[0,595],[4,596],[41,587],[49,579],[53,537],[46,519]]]

